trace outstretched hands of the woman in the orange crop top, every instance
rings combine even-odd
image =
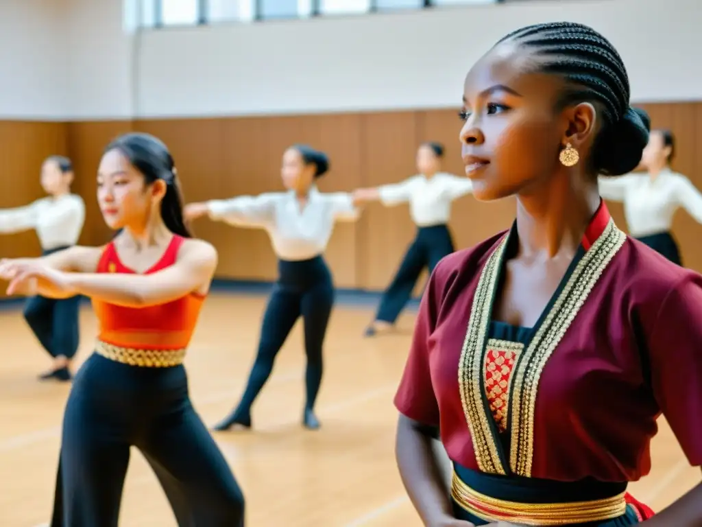
[[[7,294],[21,294],[27,289],[49,289],[61,294],[74,293],[69,273],[31,259],[1,260],[0,279],[10,282]]]

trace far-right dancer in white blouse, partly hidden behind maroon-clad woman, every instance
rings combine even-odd
[[[616,178],[600,176],[600,195],[623,202],[629,232],[638,240],[682,265],[680,250],[670,232],[673,215],[682,207],[702,223],[702,194],[682,174],[670,169],[675,138],[668,130],[653,130],[640,167],[647,174]]]

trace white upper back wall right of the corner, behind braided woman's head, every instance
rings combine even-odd
[[[545,0],[143,34],[143,116],[456,107],[470,65],[547,20],[600,30],[635,100],[702,99],[701,0]]]

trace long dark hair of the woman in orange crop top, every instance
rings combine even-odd
[[[192,238],[183,219],[183,194],[171,152],[158,138],[150,134],[131,133],[112,141],[105,152],[119,150],[143,176],[147,184],[157,179],[166,182],[166,194],[161,200],[161,218],[173,234]]]

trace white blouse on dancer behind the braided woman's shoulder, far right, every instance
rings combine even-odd
[[[682,174],[665,170],[654,180],[648,174],[626,174],[600,176],[598,181],[605,200],[623,202],[626,223],[635,238],[670,230],[680,207],[702,223],[702,194]]]

